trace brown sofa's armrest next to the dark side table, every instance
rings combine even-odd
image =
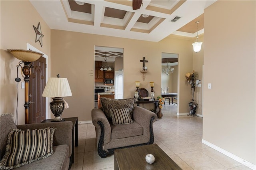
[[[64,122],[49,122],[49,123],[32,123],[26,125],[17,125],[20,130],[34,130],[40,128],[56,128],[53,135],[53,146],[68,144],[69,146],[69,157],[72,154],[72,126],[71,121]]]

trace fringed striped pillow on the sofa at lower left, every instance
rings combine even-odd
[[[6,153],[0,169],[13,169],[47,158],[53,154],[55,128],[36,130],[12,129],[8,134]]]

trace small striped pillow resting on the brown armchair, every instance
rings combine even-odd
[[[128,108],[110,109],[113,125],[129,124],[132,119]]]

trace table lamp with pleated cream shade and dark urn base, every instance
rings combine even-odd
[[[65,101],[62,97],[66,96],[72,96],[68,79],[60,78],[60,75],[49,78],[42,97],[53,97],[52,102],[50,102],[50,109],[55,115],[55,119],[53,120],[54,122],[64,121],[64,119],[61,118],[61,114],[64,111],[64,108],[66,109],[68,106],[65,107]]]

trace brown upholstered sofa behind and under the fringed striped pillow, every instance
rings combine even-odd
[[[68,170],[71,168],[72,154],[72,122],[35,123],[16,126],[10,114],[0,116],[1,128],[1,160],[6,151],[7,136],[12,129],[34,130],[40,128],[56,128],[53,135],[53,154],[47,158],[20,166],[21,170]]]

